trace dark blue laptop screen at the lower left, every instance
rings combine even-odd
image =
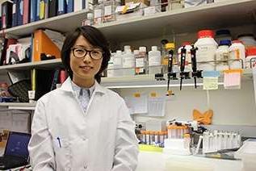
[[[27,133],[10,131],[6,144],[5,156],[19,156],[27,159],[27,145],[30,137],[31,135]]]

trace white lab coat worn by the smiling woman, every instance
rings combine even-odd
[[[36,103],[28,150],[34,171],[132,171],[134,122],[124,99],[95,81],[86,113],[68,78]]]

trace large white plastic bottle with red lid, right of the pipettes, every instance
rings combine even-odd
[[[218,44],[214,40],[214,32],[212,30],[199,31],[195,47],[198,48],[196,52],[198,69],[206,71],[214,70],[215,52],[218,48]]]

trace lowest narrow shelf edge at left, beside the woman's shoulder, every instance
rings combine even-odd
[[[36,103],[28,102],[0,102],[0,107],[17,110],[35,110]]]

